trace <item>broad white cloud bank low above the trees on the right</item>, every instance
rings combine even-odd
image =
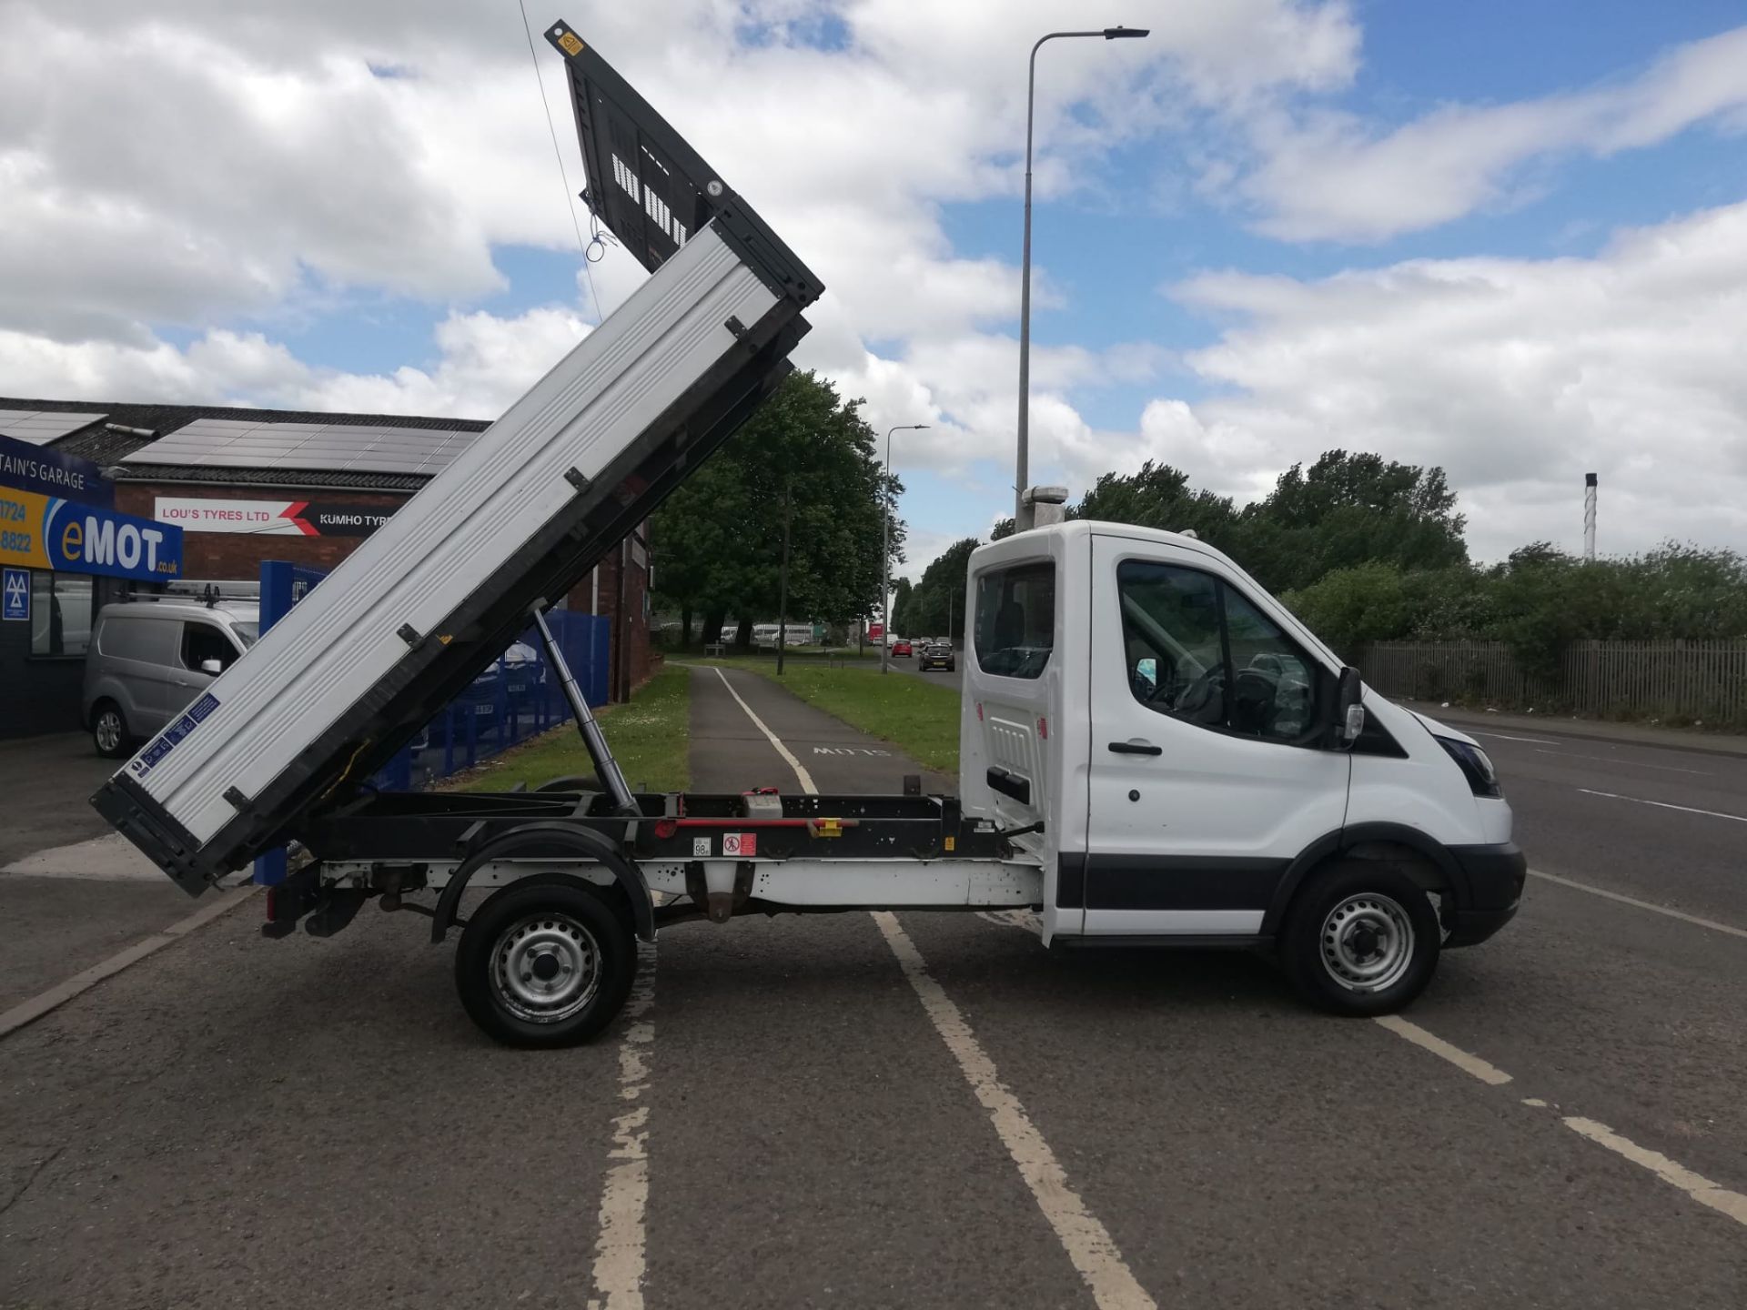
[[[1747,548],[1747,203],[1621,232],[1597,259],[1413,260],[1321,281],[1209,274],[1235,318],[1186,356],[1214,395],[1090,435],[1083,477],[1165,459],[1240,500],[1326,449],[1441,465],[1480,557],[1574,547],[1599,472],[1609,550]]]

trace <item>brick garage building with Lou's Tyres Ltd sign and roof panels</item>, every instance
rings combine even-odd
[[[489,423],[402,414],[316,414],[218,405],[94,403],[0,396],[0,435],[70,466],[101,470],[93,496],[122,515],[180,529],[180,583],[248,590],[267,559],[330,569]],[[77,461],[84,461],[79,465]],[[0,486],[7,477],[0,472]],[[68,500],[82,498],[70,491]],[[225,587],[229,583],[229,587]],[[563,606],[606,615],[613,700],[648,676],[648,526]],[[161,590],[143,578],[79,582],[31,571],[56,627],[0,622],[0,737],[73,732],[91,618],[108,601]]]

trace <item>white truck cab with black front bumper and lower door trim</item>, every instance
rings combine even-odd
[[[1045,941],[1286,948],[1314,901],[1314,962],[1366,994],[1417,968],[1415,936],[1467,945],[1515,914],[1525,866],[1478,744],[1364,688],[1205,541],[1017,533],[971,555],[964,604],[961,795],[1041,859]]]

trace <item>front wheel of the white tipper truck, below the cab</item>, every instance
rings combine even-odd
[[[1431,900],[1406,873],[1347,859],[1312,873],[1281,936],[1281,964],[1310,1004],[1336,1015],[1387,1015],[1438,968]]]

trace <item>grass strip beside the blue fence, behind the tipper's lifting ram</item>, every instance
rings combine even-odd
[[[613,758],[632,789],[683,791],[692,781],[690,760],[692,674],[666,665],[622,706],[594,711]],[[456,791],[507,791],[517,783],[536,788],[566,774],[594,772],[575,723],[561,723],[529,742],[512,746],[463,781]]]

